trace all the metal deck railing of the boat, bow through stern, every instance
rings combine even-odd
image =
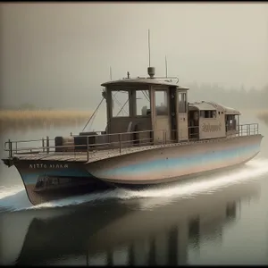
[[[196,129],[195,131],[190,131]],[[199,136],[198,127],[188,128],[188,140],[197,139]],[[160,134],[159,134],[160,132]],[[234,136],[251,136],[259,133],[259,127],[257,123],[243,124],[237,126]],[[154,139],[156,134],[157,139]],[[177,130],[172,130],[171,138],[167,139],[166,130],[144,130],[144,131],[133,131],[133,132],[123,132],[123,133],[113,133],[113,134],[102,134],[102,135],[71,135],[71,137],[86,138],[84,144],[68,144],[63,146],[55,146],[54,138],[40,138],[31,140],[16,140],[11,141],[10,139],[4,143],[4,151],[9,153],[9,157],[12,158],[14,155],[23,154],[38,154],[38,153],[68,153],[69,155],[80,154],[81,152],[87,152],[88,159],[91,153],[95,153],[100,150],[117,150],[119,153],[125,148],[130,147],[142,147],[149,145],[165,145],[169,143],[174,143],[177,140]],[[95,142],[89,142],[90,138],[93,138]],[[102,140],[101,140],[102,139]],[[97,142],[98,141],[98,142]],[[21,147],[21,144],[36,143],[36,147]],[[39,146],[38,146],[39,144]],[[41,145],[40,145],[41,144]],[[8,145],[8,147],[7,147]],[[64,149],[64,150],[63,150]]]

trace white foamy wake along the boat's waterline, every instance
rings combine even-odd
[[[47,202],[41,205],[28,206],[17,208],[21,209],[40,209],[48,207],[61,207],[68,205],[80,205],[83,203],[94,202],[96,200],[106,200],[118,198],[121,200],[131,198],[145,198],[145,197],[193,197],[201,192],[207,194],[214,193],[218,188],[228,187],[230,184],[241,183],[244,180],[257,179],[260,176],[268,173],[268,159],[256,159],[246,163],[243,167],[230,172],[225,172],[223,175],[214,174],[209,177],[199,177],[197,180],[185,180],[172,184],[172,186],[148,188],[144,190],[126,190],[116,188],[107,190],[102,193],[88,194],[78,197],[68,197],[53,202]],[[4,192],[2,192],[4,189]],[[21,191],[21,188],[0,188],[0,204],[4,197],[13,196]],[[24,190],[24,188],[23,188]],[[153,200],[152,200],[153,201]]]

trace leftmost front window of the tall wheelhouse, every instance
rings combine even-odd
[[[129,90],[112,90],[113,117],[129,117]]]

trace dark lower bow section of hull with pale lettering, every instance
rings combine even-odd
[[[21,160],[14,165],[33,205],[107,188],[83,163]]]

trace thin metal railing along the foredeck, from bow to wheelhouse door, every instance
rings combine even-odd
[[[154,133],[160,132],[157,139],[154,142]],[[83,144],[68,144],[63,146],[55,146],[54,139],[51,138],[40,138],[40,139],[31,139],[31,140],[8,140],[4,143],[4,151],[9,152],[9,157],[12,158],[14,155],[24,155],[24,154],[38,154],[38,153],[68,153],[69,155],[78,155],[81,152],[87,153],[88,159],[91,153],[95,153],[96,150],[117,150],[119,153],[122,152],[125,148],[130,147],[141,147],[149,145],[160,145],[165,144],[166,140],[166,130],[144,130],[144,131],[132,131],[132,132],[123,132],[123,133],[113,133],[113,134],[102,134],[102,135],[72,135],[71,137],[80,137],[86,139],[86,142]],[[90,138],[94,140],[100,140],[100,142],[90,143]],[[21,147],[21,144],[37,143],[35,147]],[[41,146],[38,146],[41,144]],[[61,150],[64,149],[64,150]]]

